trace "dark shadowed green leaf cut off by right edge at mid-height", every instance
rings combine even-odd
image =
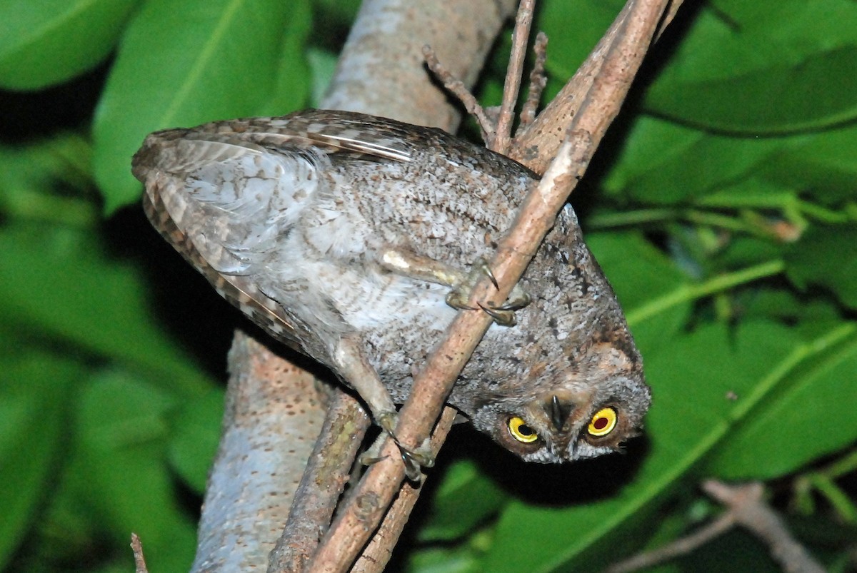
[[[818,284],[857,308],[857,225],[812,227],[786,256],[788,278],[801,289]]]

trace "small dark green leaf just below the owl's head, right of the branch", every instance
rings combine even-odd
[[[500,486],[482,475],[476,463],[460,461],[446,470],[428,521],[420,529],[420,540],[453,540],[470,534],[505,503]]]

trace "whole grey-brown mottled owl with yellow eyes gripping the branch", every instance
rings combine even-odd
[[[438,129],[333,110],[159,131],[133,172],[162,236],[389,433],[536,180]],[[571,206],[510,299],[486,304],[495,324],[449,405],[531,462],[595,457],[638,433],[642,361]]]

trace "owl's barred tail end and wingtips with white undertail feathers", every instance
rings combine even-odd
[[[144,210],[161,235],[220,295],[307,352],[309,327],[261,291],[258,272],[325,185],[327,159],[300,146],[271,152],[243,127],[223,122],[151,134],[133,172],[145,184]]]

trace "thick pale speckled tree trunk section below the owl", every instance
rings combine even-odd
[[[294,462],[306,462],[324,415],[312,375],[252,338],[237,333],[230,361],[242,367],[230,380],[193,571],[267,569],[303,475]]]

